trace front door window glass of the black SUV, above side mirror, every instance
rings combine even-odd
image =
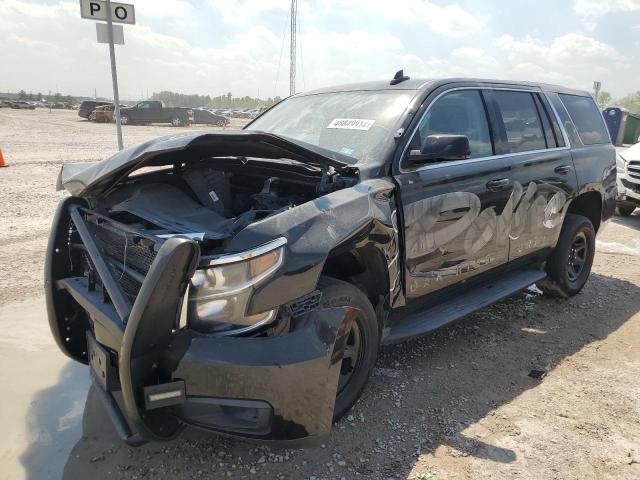
[[[436,100],[420,122],[411,147],[419,149],[425,138],[440,133],[466,135],[471,158],[493,155],[489,122],[478,90],[456,90]]]

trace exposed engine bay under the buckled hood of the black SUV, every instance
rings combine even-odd
[[[287,161],[202,159],[130,172],[96,207],[149,235],[186,235],[216,249],[250,223],[344,188],[349,180],[331,168]]]

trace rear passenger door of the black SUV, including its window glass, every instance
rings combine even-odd
[[[501,88],[486,95],[496,112],[496,148],[513,178],[509,261],[549,252],[577,188],[568,143],[541,91]]]

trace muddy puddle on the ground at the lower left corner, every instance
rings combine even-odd
[[[87,367],[56,346],[43,297],[0,306],[0,327],[3,478],[59,479],[82,435]]]

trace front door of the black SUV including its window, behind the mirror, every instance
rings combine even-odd
[[[458,87],[433,95],[395,175],[404,214],[409,299],[508,260],[510,219],[502,212],[511,194],[511,173],[506,159],[494,155],[482,90]],[[466,135],[471,158],[403,167],[408,152],[432,134]]]

